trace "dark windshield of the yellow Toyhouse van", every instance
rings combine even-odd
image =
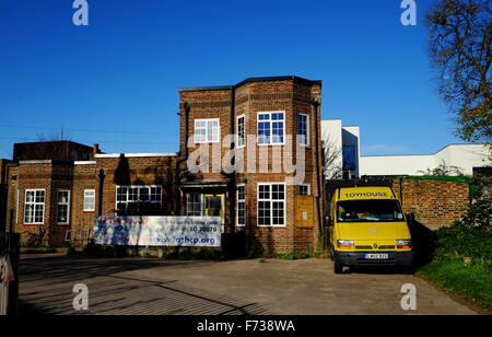
[[[350,200],[337,204],[338,222],[403,221],[397,200]]]

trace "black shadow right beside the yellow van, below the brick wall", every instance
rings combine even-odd
[[[410,234],[412,235],[414,249],[414,267],[427,265],[434,255],[437,235],[423,223],[409,220]]]

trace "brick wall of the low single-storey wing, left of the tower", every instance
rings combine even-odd
[[[32,233],[46,230],[45,245],[61,245],[68,230],[93,229],[94,217],[99,213],[99,170],[104,171],[103,202],[101,214],[114,216],[117,185],[162,185],[163,204],[171,216],[175,213],[174,168],[176,158],[129,158],[121,171],[119,158],[98,159],[96,164],[73,165],[73,163],[20,164],[9,171],[9,181],[16,181],[9,187],[8,214],[13,211],[14,231],[25,242]],[[45,189],[45,218],[43,224],[24,224],[24,200],[26,189]],[[69,223],[57,223],[57,191],[70,190]],[[95,189],[95,211],[84,212],[84,189]],[[17,201],[19,190],[19,201]],[[7,219],[10,223],[10,217]]]

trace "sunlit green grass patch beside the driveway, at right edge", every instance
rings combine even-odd
[[[448,293],[492,307],[492,232],[464,226],[437,230],[433,260],[417,270]]]

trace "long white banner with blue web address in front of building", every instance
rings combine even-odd
[[[94,243],[124,246],[220,247],[220,217],[96,217]]]

